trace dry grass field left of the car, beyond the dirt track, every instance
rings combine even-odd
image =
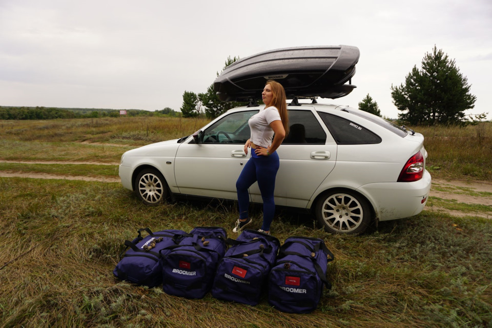
[[[0,120],[0,159],[119,163],[129,149],[190,135],[207,122],[163,117]]]

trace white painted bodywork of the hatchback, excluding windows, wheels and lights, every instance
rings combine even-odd
[[[237,108],[224,113],[201,131],[228,115],[251,112],[255,108]],[[275,183],[275,202],[281,206],[311,209],[317,197],[333,189],[355,191],[371,204],[375,217],[391,220],[413,216],[422,211],[430,190],[430,174],[414,182],[396,182],[407,160],[418,153],[425,158],[423,136],[408,133],[404,137],[364,117],[344,112],[334,105],[289,106],[291,112],[311,112],[326,133],[325,144],[282,144],[277,153],[280,169]],[[376,144],[337,144],[318,111],[354,122],[381,138]],[[351,111],[357,111],[351,109]],[[351,129],[351,127],[349,127]],[[350,130],[352,131],[352,130]],[[218,135],[218,134],[217,134]],[[181,140],[182,141],[182,140]],[[249,150],[251,152],[251,149]],[[132,179],[142,166],[153,167],[165,177],[175,195],[193,195],[237,200],[236,180],[249,160],[243,144],[195,144],[193,137],[178,144],[178,139],[157,142],[126,152],[119,176],[122,185],[133,189]],[[250,199],[261,203],[257,183],[250,188]]]

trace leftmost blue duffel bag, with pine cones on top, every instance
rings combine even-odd
[[[142,237],[142,232],[148,235]],[[115,277],[139,285],[154,287],[162,283],[160,251],[175,245],[179,237],[187,233],[181,230],[163,230],[153,233],[149,228],[139,229],[132,241],[125,240],[126,252],[113,270]]]

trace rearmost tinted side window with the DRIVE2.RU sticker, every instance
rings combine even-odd
[[[379,144],[381,137],[354,122],[328,113],[318,112],[338,145]]]

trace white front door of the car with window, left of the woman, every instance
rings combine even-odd
[[[236,180],[249,159],[244,153],[250,137],[248,119],[258,109],[233,112],[203,130],[203,142],[179,146],[175,159],[176,184],[181,194],[237,199]]]

